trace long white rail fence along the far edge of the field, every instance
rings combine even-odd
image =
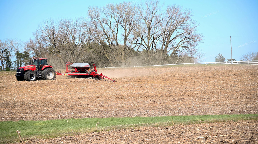
[[[247,60],[247,61],[233,61],[233,64],[248,64],[258,65],[258,60]],[[153,66],[169,66],[169,65],[188,65],[188,64],[231,64],[231,61],[223,62],[203,62],[203,63],[184,63],[184,64],[167,64],[167,65],[153,65]],[[152,66],[134,66],[134,67],[152,67]],[[105,67],[105,68],[122,68],[122,67]]]

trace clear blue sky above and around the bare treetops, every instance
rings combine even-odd
[[[14,1],[0,0],[0,39],[19,39],[24,42],[33,38],[33,32],[46,19],[86,17],[89,6],[104,6],[110,1]],[[128,0],[126,2],[129,2]],[[141,0],[131,0],[141,2]],[[204,35],[199,49],[205,53],[203,62],[213,62],[221,53],[240,60],[242,54],[258,51],[258,1],[160,1],[164,8],[178,4],[190,9],[199,24],[198,32]]]

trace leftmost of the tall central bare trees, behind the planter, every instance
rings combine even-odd
[[[104,49],[103,47],[103,52],[110,64],[114,66],[115,48],[119,45],[117,35],[120,20],[118,14],[115,13],[115,6],[107,4],[102,8],[89,7],[88,16],[90,17],[88,27],[90,28],[91,35],[99,44],[107,43],[109,48]]]

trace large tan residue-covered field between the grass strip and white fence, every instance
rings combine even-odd
[[[0,76],[0,121],[258,114],[258,66],[100,69],[115,79]]]

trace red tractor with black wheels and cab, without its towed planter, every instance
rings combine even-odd
[[[19,81],[34,81],[36,79],[53,80],[55,70],[47,64],[46,58],[33,58],[33,65],[19,67],[16,71],[16,79]]]

